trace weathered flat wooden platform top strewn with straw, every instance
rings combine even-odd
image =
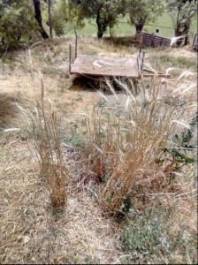
[[[79,73],[85,76],[140,77],[136,57],[80,56],[70,65],[70,73]]]

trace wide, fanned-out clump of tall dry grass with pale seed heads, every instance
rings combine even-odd
[[[86,117],[88,167],[103,183],[100,204],[112,214],[137,194],[177,192],[171,185],[172,164],[164,148],[172,147],[171,137],[183,126],[187,110],[179,106],[179,89],[174,91],[173,102],[164,100],[161,89],[165,81],[156,77],[150,80],[149,89],[141,78],[141,103],[126,83],[116,81],[125,91],[125,103],[120,103],[108,80],[115,102],[103,95],[103,104]]]

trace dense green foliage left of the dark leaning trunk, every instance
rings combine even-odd
[[[0,45],[13,46],[36,29],[32,1],[0,0]]]

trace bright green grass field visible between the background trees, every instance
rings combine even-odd
[[[170,15],[165,14],[156,19],[155,23],[149,23],[143,27],[143,32],[152,34],[156,33],[156,29],[159,29],[159,35],[171,38],[173,36],[173,27],[172,20]],[[194,17],[193,23],[191,26],[190,38],[193,38],[194,33],[197,32],[197,17]],[[82,35],[95,35],[96,36],[97,27],[95,24],[95,20],[88,21],[87,25],[78,30],[79,34]],[[135,28],[127,23],[127,19],[121,19],[118,22],[118,25],[111,29],[111,34],[118,35],[131,35],[135,33]],[[110,34],[110,29],[108,28],[107,34]]]

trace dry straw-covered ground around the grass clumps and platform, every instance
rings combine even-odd
[[[38,43],[32,50],[34,63],[30,63],[26,49],[8,53],[0,61],[0,128],[20,128],[19,132],[5,130],[0,134],[1,263],[121,263],[127,256],[119,241],[121,224],[103,215],[95,202],[91,183],[78,182],[81,165],[76,157],[79,149],[63,146],[65,164],[70,168],[68,201],[63,213],[50,208],[48,189],[27,145],[23,110],[34,111],[34,95],[41,92],[41,79],[35,68],[42,72],[45,98],[62,117],[65,132],[71,122],[75,124],[81,113],[91,113],[93,105],[102,98],[97,93],[97,87],[88,87],[82,82],[72,83],[73,77],[68,72],[69,43],[73,46],[74,40],[64,38]],[[91,37],[79,41],[80,54],[135,57],[137,52],[135,48],[116,47]],[[145,62],[151,62],[150,58],[154,55],[176,58],[182,55],[189,61],[196,59],[191,47],[148,49]],[[165,72],[166,69],[164,64],[156,70]],[[182,72],[188,70],[187,67]],[[196,74],[190,74],[178,80],[176,85],[175,80],[180,73],[175,70],[174,79],[167,81],[167,87],[164,85],[163,95],[169,95],[175,87],[189,87],[196,83]],[[112,95],[106,96],[113,99]],[[196,105],[196,87],[186,96],[192,96],[192,105]],[[138,100],[141,102],[141,93]],[[191,117],[190,112],[188,115]],[[169,204],[171,199],[167,197],[163,200]],[[179,222],[190,223],[195,235],[194,199],[186,198],[179,205],[176,213],[180,216]],[[176,263],[185,260],[180,254],[173,256]]]

